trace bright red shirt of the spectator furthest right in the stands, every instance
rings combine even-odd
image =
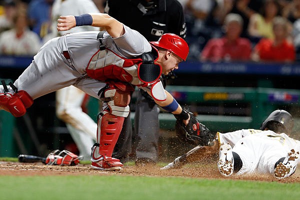
[[[261,60],[269,61],[286,61],[295,60],[294,46],[287,42],[286,39],[278,44],[274,45],[272,39],[261,39],[255,46],[255,50],[258,52]]]

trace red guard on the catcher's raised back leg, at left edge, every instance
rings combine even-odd
[[[13,116],[18,117],[26,113],[26,108],[30,107],[33,99],[24,91],[18,91],[17,88],[10,82],[9,85],[14,90],[14,94],[8,93],[8,88],[4,81],[1,81],[4,93],[0,93],[0,108],[10,112]]]

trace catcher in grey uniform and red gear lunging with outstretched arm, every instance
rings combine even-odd
[[[186,59],[188,45],[170,33],[148,42],[139,32],[103,13],[60,16],[57,30],[80,25],[106,31],[71,33],[46,42],[14,83],[0,85],[0,109],[22,116],[33,99],[74,85],[103,101],[91,166],[119,170],[123,164],[111,155],[129,112],[131,84],[146,90],[163,109],[188,123],[187,111],[159,80],[161,73],[177,69],[179,62]]]

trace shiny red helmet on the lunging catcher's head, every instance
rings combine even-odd
[[[183,60],[186,60],[188,45],[184,39],[176,34],[165,33],[159,37],[158,41],[150,41],[150,43],[154,46],[170,50]]]

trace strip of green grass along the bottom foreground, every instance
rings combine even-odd
[[[0,199],[298,199],[298,183],[124,175],[0,176]]]

